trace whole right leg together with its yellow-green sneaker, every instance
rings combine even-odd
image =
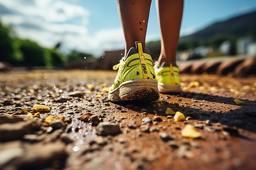
[[[183,0],[156,1],[161,31],[161,52],[155,64],[158,90],[162,93],[179,93],[180,76],[176,65],[176,48],[183,13]]]

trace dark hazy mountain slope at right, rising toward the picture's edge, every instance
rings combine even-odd
[[[256,11],[248,14],[236,16],[234,18],[217,22],[208,27],[193,33],[192,35],[183,36],[181,40],[199,40],[210,39],[215,36],[246,36],[256,34]]]

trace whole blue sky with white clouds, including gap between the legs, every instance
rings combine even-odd
[[[184,0],[180,36],[254,10],[255,0]],[[61,42],[66,53],[78,50],[100,57],[125,46],[115,0],[0,0],[0,20],[16,36],[44,47]],[[146,42],[156,40],[160,29],[152,0]]]

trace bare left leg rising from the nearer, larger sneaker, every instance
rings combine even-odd
[[[145,41],[151,0],[117,0],[119,18],[125,36],[125,56],[135,41]]]

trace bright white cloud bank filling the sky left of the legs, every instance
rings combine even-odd
[[[79,49],[100,56],[125,46],[121,28],[88,32],[90,11],[82,6],[61,0],[0,0],[1,6],[7,12],[0,11],[0,19],[13,25],[19,37],[48,48],[61,42],[65,52]]]

